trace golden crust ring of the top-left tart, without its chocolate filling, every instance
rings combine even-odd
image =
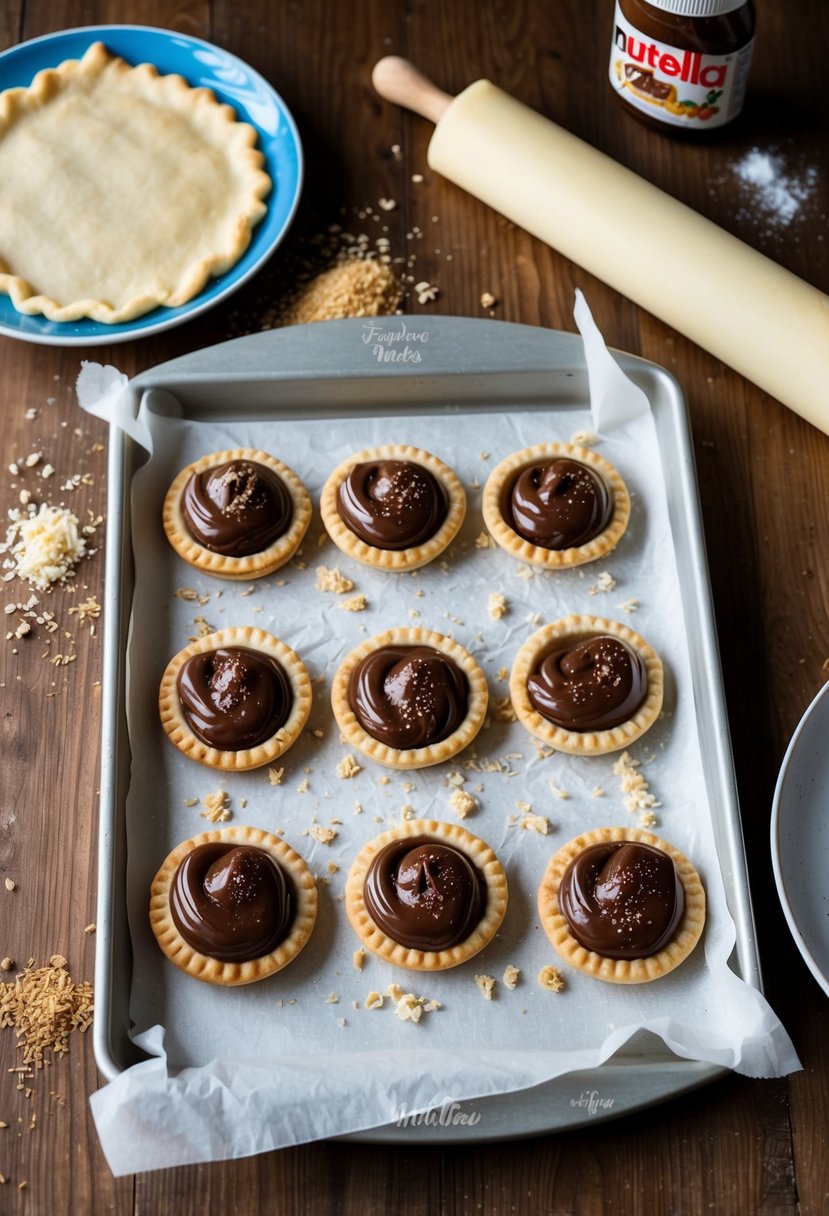
[[[230,461],[254,461],[256,465],[270,468],[291,495],[293,507],[288,530],[282,536],[277,536],[267,548],[246,557],[227,557],[199,545],[187,529],[181,510],[182,494],[190,478]],[[188,562],[190,565],[194,565],[197,570],[203,570],[205,574],[214,574],[219,579],[247,581],[272,574],[273,570],[278,570],[281,565],[291,561],[301,545],[311,522],[311,497],[294,471],[277,460],[276,456],[254,447],[233,447],[229,451],[202,456],[182,468],[164,496],[162,518],[167,539],[179,557]]]

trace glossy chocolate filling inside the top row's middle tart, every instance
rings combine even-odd
[[[355,465],[337,495],[340,519],[376,548],[412,548],[446,518],[444,489],[423,465],[384,460]]]

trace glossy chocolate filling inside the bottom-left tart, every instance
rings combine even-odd
[[[170,888],[170,914],[188,946],[222,963],[270,955],[294,919],[293,884],[263,849],[197,845]]]

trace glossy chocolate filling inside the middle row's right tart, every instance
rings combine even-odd
[[[526,681],[534,708],[566,731],[607,731],[626,722],[648,692],[636,651],[605,634],[545,655]]]

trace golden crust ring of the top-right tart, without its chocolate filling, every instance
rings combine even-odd
[[[580,461],[602,478],[613,495],[613,516],[604,531],[585,545],[574,548],[545,548],[543,545],[534,545],[532,541],[526,540],[507,523],[502,511],[503,492],[512,478],[517,477],[528,465],[562,456]],[[596,562],[600,557],[607,557],[621,540],[631,518],[631,496],[614,466],[590,447],[579,447],[575,444],[536,444],[534,447],[523,447],[521,451],[504,457],[486,479],[481,507],[484,523],[492,540],[501,548],[529,565],[542,565],[548,570],[583,565],[586,562]]]

